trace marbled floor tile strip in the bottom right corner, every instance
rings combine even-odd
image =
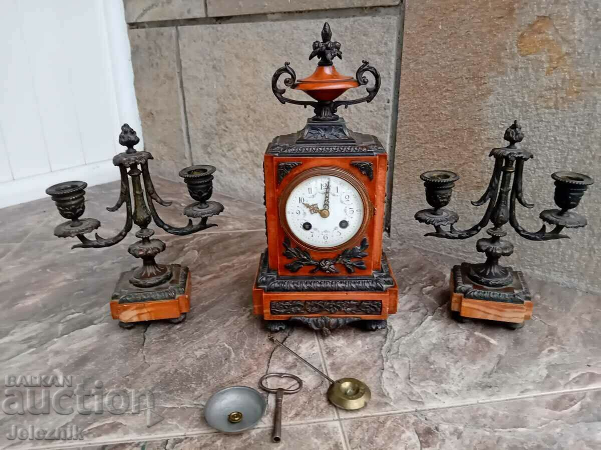
[[[349,450],[593,450],[601,392],[344,420]]]

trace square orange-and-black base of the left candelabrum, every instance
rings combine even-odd
[[[129,279],[135,269],[123,272],[111,297],[111,316],[122,328],[136,322],[169,320],[182,322],[190,311],[192,283],[186,266],[170,264],[171,279],[155,287],[136,287]]]

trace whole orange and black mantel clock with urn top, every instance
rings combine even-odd
[[[338,73],[332,61],[342,57],[340,43],[331,38],[325,23],[309,56],[319,57],[311,76],[296,80],[285,62],[272,78],[282,104],[311,106],[315,115],[301,131],[273,139],[264,155],[267,250],[253,304],[270,331],[290,321],[325,332],[352,322],[374,330],[397,310],[397,283],[382,253],[388,155],[377,137],[349,130],[337,115],[341,106],[373,100],[380,76],[367,61],[355,78]],[[284,86],[314,101],[284,97],[284,74]],[[359,86],[367,95],[336,100]]]

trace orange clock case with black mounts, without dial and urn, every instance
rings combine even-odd
[[[339,119],[338,122],[344,124],[343,119]],[[311,120],[308,126],[310,124]],[[346,126],[343,125],[343,127],[346,130]],[[297,136],[300,137],[303,133],[304,131],[301,130],[297,133]],[[267,148],[264,156],[264,177],[267,246],[269,250],[261,256],[261,264],[257,271],[253,288],[254,313],[258,316],[263,316],[263,319],[267,321],[299,319],[299,317],[307,319],[325,317],[329,322],[317,324],[314,322],[308,323],[308,325],[313,326],[313,328],[323,327],[328,329],[337,328],[337,326],[344,323],[361,319],[371,324],[376,323],[378,325],[376,328],[382,328],[385,326],[385,320],[388,319],[389,314],[394,314],[397,311],[397,284],[386,262],[386,257],[382,254],[388,155],[375,137],[352,133],[349,130],[346,130],[346,133],[352,136],[351,139],[356,138],[356,140],[352,145],[344,145],[344,149],[349,153],[344,153],[340,156],[335,152],[328,154],[328,146],[321,147],[326,153],[320,153],[315,156],[287,154],[287,150],[299,151],[301,154],[304,151],[302,145],[287,149],[288,144],[284,142],[294,142],[294,134],[276,138]],[[302,140],[298,137],[297,139]],[[335,144],[335,142],[329,143],[331,145]],[[279,152],[278,148],[282,148],[284,151]],[[331,149],[335,148],[337,147],[331,147]],[[310,151],[310,149],[311,147],[308,147],[306,151]],[[297,241],[285,231],[281,221],[279,207],[282,194],[299,177],[318,168],[335,168],[352,176],[364,187],[368,203],[370,203],[367,226],[365,226],[364,230],[360,230],[354,238],[341,245],[341,248],[334,248],[333,250],[317,250],[303,245],[302,242]],[[322,259],[335,259],[341,254],[341,251],[361,245],[364,239],[367,239],[368,244],[368,247],[364,250],[367,256],[362,258],[362,261],[365,263],[365,269],[358,268],[353,273],[348,273],[342,265],[337,265],[337,273],[327,273],[316,271],[315,266],[304,266],[297,271],[291,271],[286,267],[291,262],[291,259],[284,254],[286,250],[284,246],[285,240],[288,240],[291,246],[309,252],[311,258],[319,261]],[[267,272],[270,272],[270,277],[274,280],[271,285],[272,287],[274,284],[278,285],[277,280],[284,280],[290,284],[288,284],[288,287],[282,287],[282,290],[277,290],[277,287],[275,289],[268,289],[266,287],[267,283],[264,282],[264,279],[268,278],[266,275]],[[341,283],[346,283],[349,289],[320,290],[319,288],[313,289],[307,287],[311,283],[322,282],[328,286],[326,283],[328,278],[332,281],[344,280]],[[289,290],[288,288],[294,280],[299,281],[297,286],[304,285],[305,287],[298,290]],[[357,286],[361,286],[364,282],[373,288],[356,289]],[[283,284],[282,281],[280,286],[283,286]],[[337,311],[338,308],[335,307],[336,305],[332,309],[332,301],[350,301],[355,303],[351,304],[352,308],[350,309],[341,307],[341,310]],[[365,307],[361,305],[357,306],[356,302],[364,301],[368,302],[365,304]],[[287,302],[288,305],[298,302],[298,307],[294,310],[293,305],[289,313],[281,313],[282,308],[278,308],[277,305],[274,306],[276,302]],[[308,306],[302,308],[301,302]],[[316,305],[322,304],[319,302],[330,302],[329,309],[326,307],[326,310],[318,311]],[[370,309],[374,304],[379,306],[379,311]],[[363,314],[362,312],[366,313]],[[334,319],[334,322],[331,319]],[[335,322],[336,319],[340,319],[341,323]]]

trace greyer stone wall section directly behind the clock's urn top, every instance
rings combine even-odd
[[[313,73],[316,60],[308,56],[326,20],[342,44],[337,70],[354,75],[368,59],[382,77],[376,100],[350,107],[344,118],[351,129],[376,134],[394,148],[402,6],[335,0],[331,10],[317,10],[322,4],[208,0],[205,10],[197,0],[124,1],[145,148],[160,161],[159,175],[177,179],[178,168],[213,164],[216,190],[263,202],[267,144],[301,129],[313,115],[280,104],[271,77],[285,61],[299,79]],[[346,98],[365,95],[363,88],[354,91]],[[287,95],[311,100],[290,89]]]

